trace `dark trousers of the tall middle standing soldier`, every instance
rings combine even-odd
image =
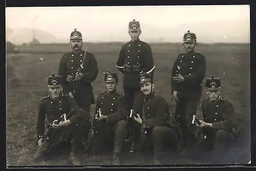
[[[144,95],[140,91],[140,88],[127,88],[123,87],[124,96],[129,110],[133,109],[135,113],[142,114],[142,102]],[[138,142],[140,138],[141,125],[135,120],[129,118],[129,125],[127,125],[130,131],[130,138],[134,142]]]

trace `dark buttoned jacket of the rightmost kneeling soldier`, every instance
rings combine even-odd
[[[208,133],[212,131],[223,129],[227,132],[231,132],[234,124],[234,109],[233,105],[229,103],[223,97],[220,98],[215,103],[210,103],[209,99],[205,99],[202,102],[202,112],[204,121],[206,123],[212,123],[211,128],[204,128],[204,135],[207,136]]]

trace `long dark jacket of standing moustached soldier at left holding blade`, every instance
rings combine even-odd
[[[58,75],[62,76],[63,79],[63,93],[68,94],[75,90],[77,93],[73,95],[77,104],[81,105],[95,103],[91,82],[93,82],[98,75],[97,61],[93,54],[87,52],[83,62],[83,69],[81,69],[83,77],[80,83],[77,84],[78,86],[76,86],[75,75],[82,63],[84,53],[84,51],[78,54],[69,52],[63,55],[59,62],[58,71]],[[69,79],[71,77],[74,79]]]

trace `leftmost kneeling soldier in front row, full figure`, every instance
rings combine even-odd
[[[76,102],[69,95],[63,95],[61,93],[61,81],[60,76],[50,76],[48,79],[50,95],[41,99],[39,103],[36,124],[39,148],[33,158],[35,161],[49,159],[48,157],[54,153],[54,149],[57,149],[63,142],[68,142],[72,139],[70,160],[74,165],[81,165],[78,153],[80,150],[79,147],[81,146],[81,138],[77,134],[79,132],[78,125],[80,120],[84,119],[84,116],[88,116],[88,114],[84,115],[82,109],[76,105]],[[59,124],[55,123],[62,114],[68,114],[72,109],[74,110],[70,118],[61,121]],[[48,128],[53,127],[55,130],[49,136],[49,140],[43,141],[45,119],[47,119]]]

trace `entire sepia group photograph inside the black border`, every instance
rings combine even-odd
[[[251,163],[250,6],[6,8],[6,166]]]

